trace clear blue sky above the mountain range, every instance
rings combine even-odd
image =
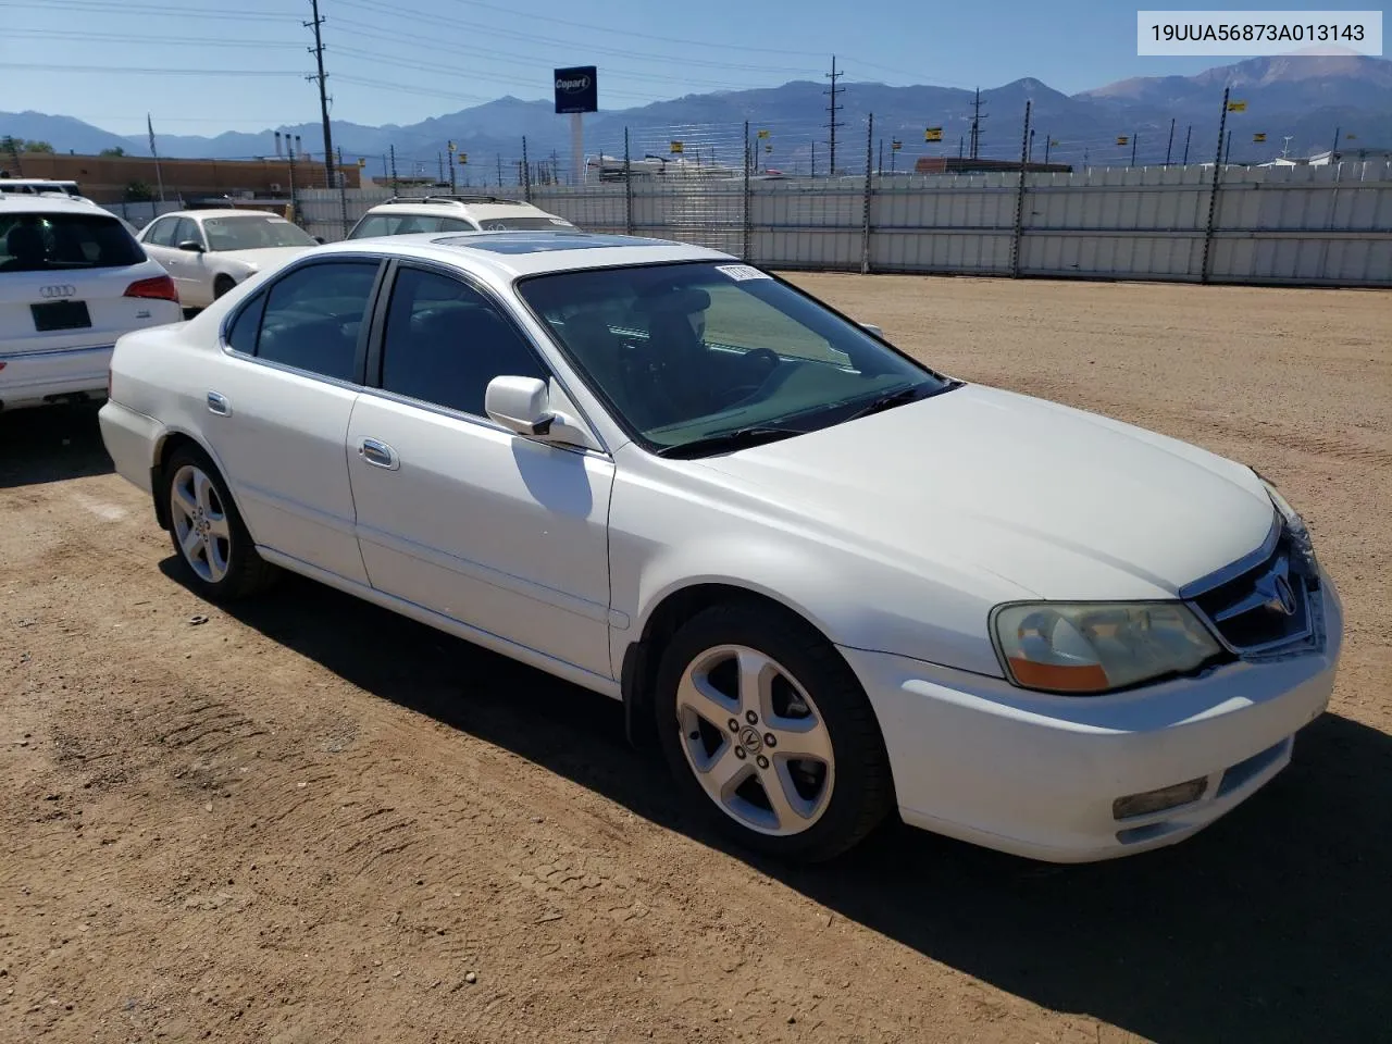
[[[333,116],[373,125],[501,95],[547,99],[551,70],[571,64],[599,65],[600,106],[626,109],[824,79],[832,53],[845,82],[988,88],[1036,77],[1063,92],[1229,61],[1137,57],[1136,10],[1116,0],[320,3]],[[143,131],[148,110],[161,134],[315,121],[309,17],[309,0],[0,0],[0,107],[75,116],[118,134]]]

